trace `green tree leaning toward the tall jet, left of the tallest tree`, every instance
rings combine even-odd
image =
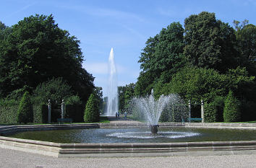
[[[150,93],[152,85],[160,78],[161,74],[165,73],[165,76],[169,77],[166,80],[168,82],[171,80],[171,75],[184,66],[183,33],[182,25],[179,22],[173,22],[167,28],[163,28],[158,35],[148,39],[138,61],[141,63],[142,72],[136,84],[137,93],[145,94],[142,91],[145,88],[146,93]],[[148,75],[153,80],[149,79],[145,82]]]

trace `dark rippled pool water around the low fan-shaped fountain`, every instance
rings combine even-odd
[[[9,137],[56,143],[165,143],[256,140],[256,131],[212,128],[158,128],[158,135],[152,136],[148,128],[90,128],[26,131]]]

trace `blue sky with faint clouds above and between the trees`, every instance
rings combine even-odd
[[[232,25],[234,19],[256,25],[256,0],[1,0],[0,21],[7,26],[34,14],[53,14],[56,23],[80,40],[83,67],[95,76],[95,86],[108,83],[108,56],[114,48],[118,85],[136,82],[137,63],[148,37],[171,22],[191,14],[215,12],[216,18]]]

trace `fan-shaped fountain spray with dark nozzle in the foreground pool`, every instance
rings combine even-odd
[[[182,122],[187,118],[186,107],[184,108],[182,99],[176,94],[161,95],[158,100],[155,100],[152,89],[151,94],[147,97],[135,97],[131,105],[135,112],[140,113],[140,116],[142,115],[148,120],[153,135],[158,132],[158,120],[164,110],[168,111],[167,117],[173,120],[179,118],[179,121]]]

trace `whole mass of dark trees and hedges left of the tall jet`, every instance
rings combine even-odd
[[[29,93],[34,123],[45,120],[43,105],[48,100],[58,108],[63,99],[69,105],[67,115],[82,121],[90,94],[102,92],[94,87],[94,77],[82,68],[82,61],[80,41],[61,30],[52,15],[25,17],[12,27],[0,22],[0,123],[16,122],[25,92]],[[60,114],[54,115],[56,120]]]

